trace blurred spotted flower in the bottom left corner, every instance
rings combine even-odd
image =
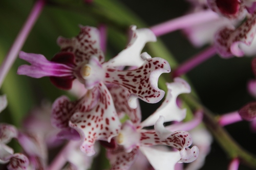
[[[0,163],[10,162],[7,166],[10,170],[27,169],[29,166],[29,159],[24,154],[14,153],[7,145],[12,138],[17,138],[17,135],[15,127],[0,124]]]

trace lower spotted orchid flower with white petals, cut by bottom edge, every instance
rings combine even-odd
[[[180,93],[190,92],[190,87],[180,78],[176,78],[174,83],[167,84],[167,87],[168,94],[165,101],[152,116],[147,118],[148,120],[140,124],[127,120],[122,125],[120,133],[115,137],[118,147],[108,150],[111,169],[129,169],[139,151],[146,156],[155,169],[173,169],[178,161],[191,162],[197,158],[198,148],[188,148],[192,144],[188,132],[180,130],[170,132],[167,130],[168,127],[163,126],[165,122],[163,116],[166,116],[166,122],[181,121],[184,118],[185,110],[178,108],[176,98]],[[155,124],[155,130],[143,129],[152,124]],[[151,147],[158,144],[174,147],[178,151],[161,151]]]

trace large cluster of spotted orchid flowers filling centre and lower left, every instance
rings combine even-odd
[[[139,152],[155,169],[174,169],[177,162],[196,160],[199,150],[196,146],[189,148],[193,141],[186,130],[195,128],[202,115],[197,114],[187,123],[163,126],[165,122],[181,122],[185,118],[186,110],[177,106],[177,97],[190,92],[186,81],[176,78],[173,83],[167,83],[168,93],[162,106],[141,122],[138,99],[157,103],[163,98],[164,91],[158,88],[158,78],[162,73],[170,72],[170,66],[162,58],[152,58],[145,52],[141,54],[146,42],[156,41],[150,29],[132,26],[130,35],[126,48],[109,61],[104,61],[99,31],[89,26],[80,26],[80,33],[74,38],[58,38],[61,50],[51,61],[43,55],[19,53],[21,59],[31,64],[19,66],[19,75],[47,76],[56,87],[65,90],[80,84],[83,89],[78,91],[84,94],[76,101],[60,96],[51,111],[45,109],[41,115],[33,113],[26,120],[23,132],[6,125],[9,131],[14,130],[12,137],[18,139],[26,152],[26,156],[23,155],[25,163],[13,169],[45,169],[46,147],[58,145],[63,139],[69,140],[62,154],[67,154],[65,162],[69,162],[69,166],[66,168],[72,169],[90,168],[93,157],[99,152],[97,141],[108,151],[110,169],[129,169]],[[128,118],[121,123],[124,116]],[[146,128],[152,126],[154,129]],[[5,133],[4,130],[0,132]],[[172,149],[162,150],[155,145]],[[88,160],[87,165],[84,160]],[[55,168],[53,162],[50,169]]]

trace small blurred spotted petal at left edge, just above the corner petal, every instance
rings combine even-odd
[[[17,137],[17,129],[8,124],[0,124],[0,142],[1,143],[8,143],[11,141],[12,138]]]

